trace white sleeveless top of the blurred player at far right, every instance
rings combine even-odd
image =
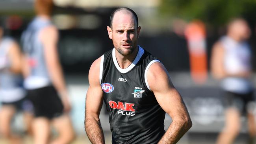
[[[251,52],[247,42],[237,42],[228,36],[221,38],[224,46],[224,70],[228,74],[250,72]],[[239,77],[228,77],[222,81],[222,87],[226,91],[245,94],[252,90],[249,79]]]

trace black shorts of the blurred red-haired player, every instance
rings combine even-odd
[[[63,104],[53,86],[28,90],[28,98],[33,103],[35,117],[52,119],[63,114]]]

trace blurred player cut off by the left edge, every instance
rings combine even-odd
[[[12,144],[21,143],[21,138],[11,132],[11,120],[16,111],[24,111],[24,122],[30,131],[32,105],[25,98],[22,88],[22,55],[19,45],[9,37],[3,37],[0,26],[0,135]]]

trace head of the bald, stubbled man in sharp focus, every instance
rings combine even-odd
[[[109,38],[116,50],[122,55],[129,55],[137,48],[139,31],[134,16],[130,12],[115,13],[112,28],[107,27]]]

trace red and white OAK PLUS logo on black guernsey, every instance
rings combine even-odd
[[[123,102],[114,102],[110,100],[108,102],[111,109],[118,109],[117,113],[127,116],[134,116],[135,115],[135,109],[134,109],[134,103],[123,103]]]

